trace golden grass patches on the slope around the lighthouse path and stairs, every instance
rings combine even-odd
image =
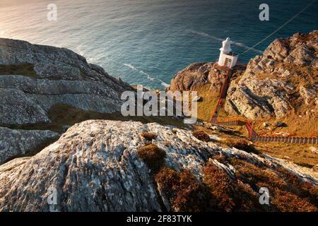
[[[281,63],[277,63],[276,67],[283,66]],[[286,65],[285,65],[286,68]],[[254,121],[254,129],[259,133],[264,133],[268,131],[264,128],[264,121],[274,124],[275,121],[283,121],[285,127],[275,127],[270,126],[270,131],[268,135],[274,134],[276,132],[287,132],[290,136],[318,136],[318,120],[317,120],[317,108],[314,107],[314,100],[310,102],[310,105],[305,105],[304,100],[300,97],[299,90],[300,86],[307,87],[314,83],[318,83],[318,70],[313,69],[309,66],[297,66],[290,64],[287,66],[288,71],[290,71],[291,76],[285,78],[285,81],[293,84],[295,86],[294,90],[288,91],[288,102],[290,102],[290,112],[281,119],[257,119]],[[231,83],[237,83],[237,81],[242,76],[242,71],[237,71],[232,76]],[[264,78],[278,78],[277,74],[257,74],[255,75],[258,79]],[[281,79],[281,78],[279,78]],[[210,84],[196,86],[194,90],[197,90],[199,95],[203,97],[203,101],[198,103],[198,118],[204,121],[208,121],[211,117],[213,109],[216,107],[216,102],[218,100],[218,95],[220,90],[210,90]],[[299,117],[299,115],[301,117]],[[218,114],[218,117],[230,117],[225,111],[224,107]],[[245,126],[227,126],[231,129],[238,131],[238,134],[226,135],[218,132],[218,136],[223,138],[223,141],[215,141],[218,145],[229,145],[227,140],[242,138],[243,136],[247,138],[247,133],[245,131]],[[205,130],[204,130],[205,131]],[[207,131],[205,131],[207,132]],[[207,132],[211,133],[211,132]],[[231,143],[236,143],[231,141]],[[235,145],[232,145],[235,146]],[[241,145],[240,145],[241,146]],[[259,150],[261,153],[269,154],[273,157],[280,157],[290,162],[294,162],[302,167],[312,168],[314,165],[318,164],[318,156],[310,152],[310,144],[293,144],[293,143],[281,143],[281,142],[257,142],[254,143],[254,148]],[[317,145],[314,145],[315,147]],[[245,150],[245,147],[240,147],[240,149]]]

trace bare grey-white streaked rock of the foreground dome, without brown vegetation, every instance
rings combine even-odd
[[[90,120],[72,126],[59,141],[33,157],[0,166],[0,211],[49,211],[49,189],[57,191],[59,211],[160,211],[170,204],[136,154],[146,141],[143,131],[165,150],[165,165],[188,169],[201,180],[201,168],[211,155],[226,155],[266,167],[285,167],[301,179],[318,184],[317,176],[283,160],[260,157],[236,148],[220,148],[197,140],[191,131],[136,121]],[[235,178],[235,168],[213,163]],[[313,173],[312,173],[313,174]],[[52,191],[52,190],[51,190]],[[163,205],[165,203],[165,205]]]

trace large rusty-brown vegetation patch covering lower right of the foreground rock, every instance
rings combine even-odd
[[[232,179],[212,162],[202,167],[203,183],[188,170],[162,167],[154,175],[160,191],[176,211],[310,211],[318,210],[318,189],[301,182],[295,174],[276,167],[269,169],[235,157],[218,159],[233,165]],[[259,189],[269,189],[269,205],[259,203]]]

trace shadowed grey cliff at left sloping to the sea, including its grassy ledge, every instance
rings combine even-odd
[[[0,126],[49,124],[47,112],[58,104],[100,113],[119,112],[124,90],[131,90],[131,86],[69,49],[0,38]],[[38,131],[16,131],[11,141],[1,136],[0,163],[28,149],[8,143],[24,142],[32,134]],[[31,139],[38,143],[52,134]]]

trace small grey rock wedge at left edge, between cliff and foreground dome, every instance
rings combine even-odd
[[[16,157],[25,155],[28,150],[37,148],[48,140],[59,138],[58,133],[40,130],[20,130],[0,127],[0,164]]]

